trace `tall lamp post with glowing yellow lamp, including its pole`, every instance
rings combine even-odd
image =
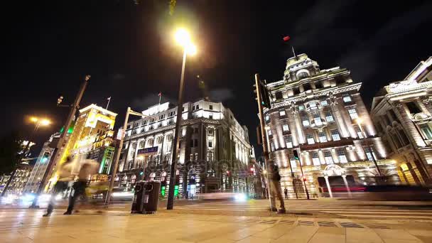
[[[183,112],[183,90],[185,88],[185,65],[186,55],[195,55],[197,52],[196,46],[190,40],[190,35],[185,29],[179,29],[175,33],[175,41],[183,48],[183,64],[181,66],[180,76],[180,88],[178,90],[178,102],[177,102],[177,117],[175,119],[175,130],[173,140],[173,157],[171,159],[171,173],[170,173],[170,187],[168,190],[168,202],[166,204],[167,210],[172,210],[174,207],[174,187],[175,187],[175,176],[177,171],[177,149],[180,144],[180,123],[181,115]]]

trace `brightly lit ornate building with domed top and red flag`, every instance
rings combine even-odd
[[[330,197],[337,190],[377,183],[372,156],[382,175],[399,183],[394,161],[385,159],[384,144],[360,97],[361,85],[353,82],[349,70],[320,70],[306,54],[289,58],[283,80],[266,85],[271,97],[271,109],[264,109],[270,157],[279,165],[281,186],[291,198],[295,191],[304,195],[303,180],[311,196]],[[305,178],[293,149],[301,151]]]

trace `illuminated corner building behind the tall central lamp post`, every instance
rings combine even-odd
[[[142,112],[153,118],[129,122],[116,178],[120,185],[135,183],[145,171],[146,179],[161,180],[168,192],[176,111],[168,102],[156,104]],[[247,174],[253,154],[248,130],[230,109],[205,99],[187,102],[180,132],[179,195],[191,197],[214,190],[252,193]]]

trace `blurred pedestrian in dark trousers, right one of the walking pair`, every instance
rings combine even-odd
[[[87,188],[87,182],[90,179],[90,175],[97,173],[97,168],[99,168],[99,163],[90,159],[81,163],[78,180],[72,185],[68,210],[64,212],[63,215],[72,215],[72,210],[75,206],[76,200],[80,198],[80,196],[85,195],[85,188]]]

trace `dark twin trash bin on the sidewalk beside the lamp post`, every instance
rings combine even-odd
[[[161,182],[158,180],[137,182],[131,213],[156,212],[158,210],[159,190],[161,190]]]

